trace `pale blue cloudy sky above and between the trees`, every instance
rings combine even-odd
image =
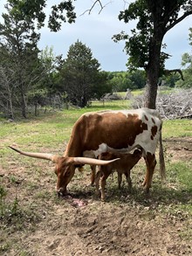
[[[93,58],[98,59],[101,70],[104,71],[126,71],[127,54],[124,51],[125,42],[113,42],[113,35],[126,31],[131,35],[130,30],[134,28],[135,22],[125,24],[118,19],[120,10],[124,10],[125,5],[133,1],[124,0],[104,0],[102,3],[106,7],[99,13],[99,5],[95,6],[92,13],[88,11],[93,4],[93,0],[77,0],[75,2],[77,19],[74,24],[63,24],[61,31],[51,32],[46,26],[40,30],[41,39],[38,47],[40,50],[46,46],[53,47],[55,55],[63,55],[66,58],[69,47],[81,41],[93,52]],[[5,0],[0,0],[0,10],[3,12]],[[48,0],[46,14],[50,13],[51,4],[59,3],[59,0]],[[2,20],[1,20],[2,22]],[[181,68],[182,54],[191,52],[189,45],[189,27],[192,27],[192,16],[186,17],[180,24],[176,24],[173,29],[165,35],[163,43],[167,52],[172,57],[167,60],[166,68]]]

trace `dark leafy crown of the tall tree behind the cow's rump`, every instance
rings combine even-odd
[[[186,11],[182,17],[179,17],[180,10]],[[159,55],[159,63],[155,65],[163,69],[169,55],[161,52],[162,39],[169,29],[190,14],[192,14],[190,1],[137,0],[130,3],[127,10],[120,11],[120,20],[125,23],[133,20],[137,22],[135,29],[131,30],[131,35],[121,31],[120,34],[113,36],[116,42],[126,41],[128,68],[146,69],[155,56]]]

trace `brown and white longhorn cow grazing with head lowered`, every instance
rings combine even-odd
[[[48,159],[54,162],[56,164],[55,173],[58,176],[58,194],[65,194],[66,186],[70,183],[75,169],[79,165],[86,163],[91,165],[101,164],[100,162],[96,163],[95,159],[87,161],[87,158],[81,157],[84,151],[97,151],[102,143],[106,143],[107,146],[113,149],[126,149],[128,151],[139,147],[143,149],[147,165],[143,185],[148,191],[151,187],[156,164],[155,149],[158,141],[160,141],[161,175],[164,175],[161,127],[162,121],[158,111],[146,107],[134,110],[91,112],[82,114],[79,120],[75,122],[64,156],[28,153],[14,148],[11,149],[24,156]]]

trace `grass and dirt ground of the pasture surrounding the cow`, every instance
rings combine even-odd
[[[107,180],[102,203],[88,186],[86,166],[69,184],[72,197],[82,200],[83,207],[70,197],[57,197],[52,163],[19,156],[8,148],[62,155],[80,114],[128,107],[128,100],[104,106],[97,102],[84,109],[0,123],[0,255],[191,255],[191,120],[163,123],[166,183],[161,183],[157,165],[147,197],[141,187],[145,175],[141,160],[132,171],[132,193],[125,181],[118,190],[114,174]]]

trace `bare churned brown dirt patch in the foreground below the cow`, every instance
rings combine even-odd
[[[94,211],[93,209],[97,209]],[[54,209],[37,230],[21,236],[30,255],[190,255],[178,220],[148,209],[90,203],[85,209]],[[15,255],[15,253],[9,253]]]

